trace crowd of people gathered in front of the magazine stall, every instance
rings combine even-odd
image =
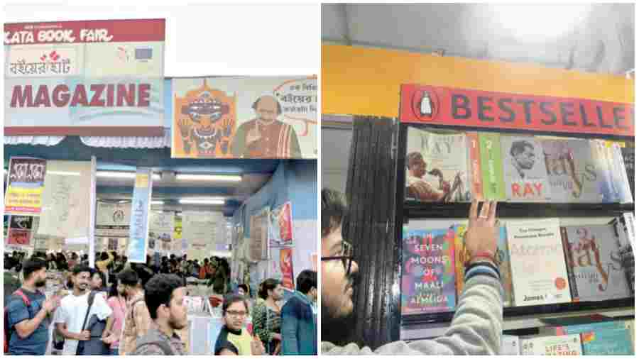
[[[222,331],[215,343],[202,343],[214,344],[215,355],[317,354],[317,272],[302,271],[282,307],[281,283],[265,280],[250,311],[249,286],[229,290],[224,258],[200,263],[171,255],[129,263],[107,252],[95,258],[89,267],[88,256],[76,253],[5,255],[6,354],[44,355],[51,342],[62,355],[184,355],[189,277],[225,294]],[[50,270],[67,277],[64,288],[47,297]],[[8,283],[7,272],[21,273],[21,280]]]

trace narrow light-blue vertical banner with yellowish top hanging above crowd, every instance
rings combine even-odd
[[[146,263],[148,247],[148,212],[151,209],[153,179],[150,168],[138,168],[136,187],[133,189],[131,228],[127,257],[131,263]]]

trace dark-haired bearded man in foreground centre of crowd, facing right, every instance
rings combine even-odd
[[[186,287],[177,275],[155,275],[148,281],[144,302],[153,323],[138,338],[133,355],[186,355],[177,331],[187,326]]]

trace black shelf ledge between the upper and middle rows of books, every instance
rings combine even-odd
[[[404,201],[404,219],[468,218],[470,203]],[[591,217],[634,212],[635,204],[618,203],[515,203],[499,202],[497,217]]]

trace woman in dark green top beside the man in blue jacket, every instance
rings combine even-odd
[[[280,281],[271,278],[265,280],[258,290],[258,296],[264,301],[253,307],[253,331],[260,337],[269,355],[278,355],[280,352],[281,309],[277,302],[282,300],[283,291]]]

